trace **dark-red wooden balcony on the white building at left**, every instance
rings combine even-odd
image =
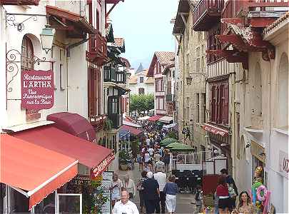
[[[107,61],[106,39],[100,32],[94,34],[88,41],[88,51],[86,51],[86,60],[103,66]]]

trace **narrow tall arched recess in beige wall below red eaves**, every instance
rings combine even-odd
[[[255,102],[255,115],[262,115],[262,78],[260,64],[255,66],[255,84],[254,84],[254,102]]]

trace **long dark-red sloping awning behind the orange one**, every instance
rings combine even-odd
[[[72,136],[53,126],[20,131],[14,133],[13,136],[65,156],[77,158],[79,163],[93,169],[95,177],[102,173],[114,159],[111,149]]]

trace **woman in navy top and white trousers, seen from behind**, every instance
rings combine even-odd
[[[163,188],[163,193],[166,194],[166,208],[168,213],[175,213],[176,211],[176,194],[178,193],[178,185],[175,183],[176,176],[170,175],[168,183]]]

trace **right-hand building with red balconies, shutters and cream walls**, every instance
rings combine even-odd
[[[208,31],[210,117],[204,128],[228,155],[238,188],[250,190],[260,166],[271,193],[264,209],[288,213],[288,2],[215,1],[206,5],[211,11],[203,6],[199,1],[193,11],[193,28]]]

